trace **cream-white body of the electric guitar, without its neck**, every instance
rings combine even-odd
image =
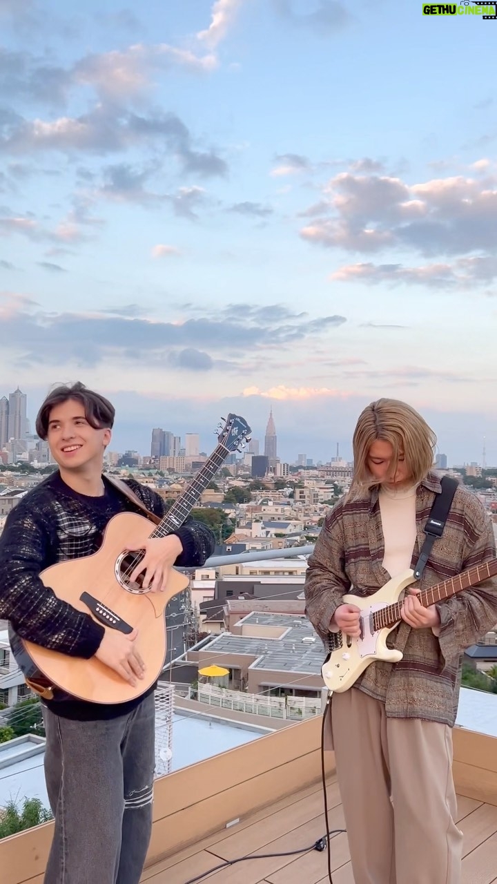
[[[342,646],[330,654],[321,670],[328,690],[336,690],[338,693],[348,690],[375,659],[386,660],[389,663],[397,663],[401,659],[400,651],[386,645],[386,638],[394,626],[375,631],[372,628],[372,615],[397,602],[401,592],[409,586],[409,583],[414,583],[411,570],[389,580],[378,592],[367,598],[344,596],[345,604],[356,605],[362,609],[360,615],[362,636],[350,638],[342,634]]]

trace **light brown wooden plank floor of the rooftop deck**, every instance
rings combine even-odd
[[[343,828],[340,793],[328,784],[330,827]],[[458,823],[464,834],[462,884],[497,884],[497,807],[459,797]],[[254,853],[284,853],[310,847],[325,833],[323,795],[319,784],[289,796],[193,845],[143,874],[142,884],[187,884],[224,860]],[[354,884],[346,834],[332,842],[333,884]],[[251,858],[213,872],[209,884],[328,884],[327,855],[310,850],[299,856]]]

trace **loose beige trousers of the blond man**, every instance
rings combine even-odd
[[[356,884],[460,884],[451,729],[356,688],[333,694],[332,727]]]

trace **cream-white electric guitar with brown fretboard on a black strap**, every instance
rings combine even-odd
[[[435,583],[434,586],[420,592],[417,598],[424,607],[430,607],[496,574],[497,559],[492,559],[485,565],[469,568],[463,571],[463,574],[450,577],[443,583]],[[409,583],[415,583],[414,572],[410,569],[393,577],[378,592],[367,598],[352,594],[343,597],[344,605],[356,605],[361,608],[359,615],[361,636],[351,638],[341,631],[330,634],[333,649],[321,668],[328,690],[336,690],[339,694],[348,690],[373,660],[398,663],[402,659],[401,651],[386,646],[386,638],[401,621],[402,600],[399,598],[401,591],[409,586]]]

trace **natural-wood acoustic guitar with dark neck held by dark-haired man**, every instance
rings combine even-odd
[[[11,633],[14,656],[32,690],[47,699],[59,689],[62,695],[112,704],[140,697],[157,681],[166,652],[164,609],[170,598],[186,589],[189,578],[172,568],[164,592],[143,590],[142,575],[134,583],[129,577],[144,553],[126,552],[126,546],[137,547],[148,537],[165,537],[177,530],[228,454],[240,451],[249,433],[242,417],[228,415],[215,451],[151,533],[146,516],[119,513],[108,523],[97,552],[58,562],[40,575],[57,598],[89,613],[107,629],[119,629],[126,635],[137,628],[136,646],[145,664],[144,678],[133,687],[96,657],[69,657]]]

